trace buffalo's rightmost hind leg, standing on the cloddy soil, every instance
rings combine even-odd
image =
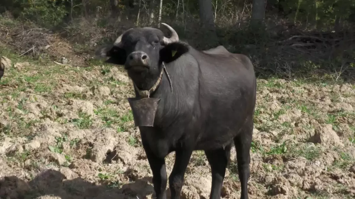
[[[252,121],[252,120],[251,120]],[[249,199],[248,180],[250,176],[250,147],[252,141],[253,123],[246,126],[238,136],[234,138],[237,152],[238,175],[240,179],[241,194],[240,199]]]

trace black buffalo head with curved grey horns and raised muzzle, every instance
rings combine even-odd
[[[139,81],[156,79],[162,71],[163,62],[172,62],[188,51],[187,45],[179,42],[176,31],[168,24],[162,25],[170,30],[170,38],[166,38],[159,29],[131,28],[122,33],[113,45],[102,47],[96,54],[110,57],[107,63],[124,65],[136,85],[140,84]]]

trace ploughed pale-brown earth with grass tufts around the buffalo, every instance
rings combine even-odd
[[[123,70],[2,53],[29,64],[12,66],[0,81],[0,197],[152,198]],[[354,197],[354,85],[259,79],[257,94],[250,198]],[[231,159],[223,198],[240,194],[235,150]],[[170,154],[168,175],[173,163]],[[182,198],[208,198],[203,152],[193,153],[185,177]]]

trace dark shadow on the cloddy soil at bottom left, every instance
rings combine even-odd
[[[151,177],[144,177],[121,188],[95,185],[77,177],[67,180],[59,171],[48,169],[31,181],[16,176],[0,179],[0,199],[145,199],[153,193]]]

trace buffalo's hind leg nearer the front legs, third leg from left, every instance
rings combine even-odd
[[[209,199],[220,199],[223,185],[225,169],[229,161],[232,144],[228,144],[224,149],[205,150],[209,165],[212,171],[212,187]]]

